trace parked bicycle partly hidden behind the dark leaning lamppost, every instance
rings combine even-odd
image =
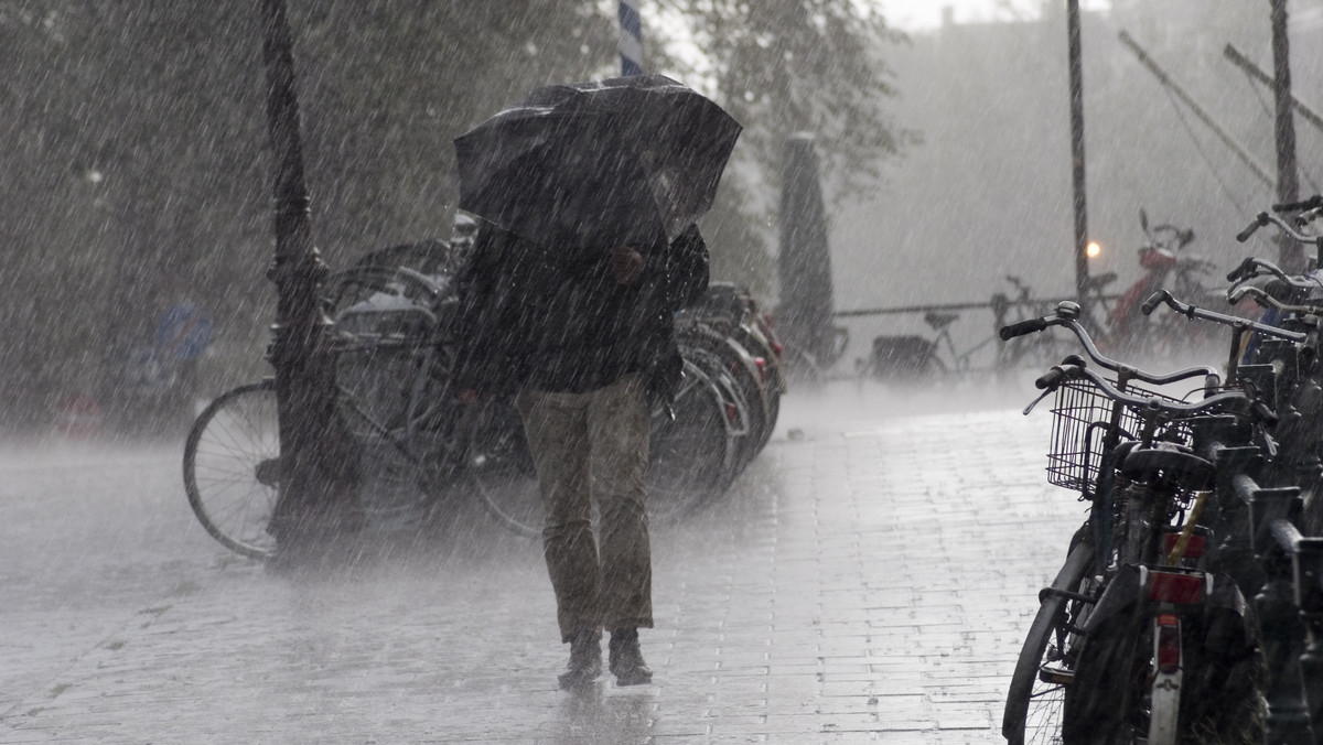
[[[328,279],[324,303],[337,323],[321,353],[335,369],[339,416],[327,442],[352,443],[337,459],[341,478],[359,476],[366,460],[400,488],[414,480],[417,453],[456,449],[445,437],[447,357],[431,343],[443,296],[437,282],[405,267],[364,265]],[[184,486],[198,521],[254,558],[277,548],[267,525],[283,476],[278,422],[273,380],[239,385],[198,414],[184,446]]]

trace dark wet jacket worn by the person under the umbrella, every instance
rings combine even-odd
[[[618,285],[609,249],[572,257],[484,224],[456,278],[458,388],[583,393],[642,372],[652,405],[669,402],[684,364],[673,318],[703,298],[708,249],[695,226],[636,249],[642,277]]]

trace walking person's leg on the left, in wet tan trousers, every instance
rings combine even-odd
[[[591,683],[602,670],[601,568],[593,539],[586,396],[520,392],[516,405],[537,468],[546,520],[542,552],[556,592],[561,640],[570,643],[561,687]]]

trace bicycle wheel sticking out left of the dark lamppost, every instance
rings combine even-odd
[[[184,445],[184,490],[202,527],[253,558],[275,553],[267,532],[280,480],[275,382],[222,393],[193,422]]]

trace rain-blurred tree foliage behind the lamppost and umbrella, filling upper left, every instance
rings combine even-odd
[[[332,267],[447,237],[455,136],[532,87],[618,70],[614,3],[288,5],[314,237]],[[746,126],[705,222],[718,277],[766,288],[781,140],[816,130],[826,160],[867,180],[900,142],[878,109],[890,82],[876,49],[896,36],[848,0],[662,7],[708,29],[696,38],[713,74],[669,64],[665,29],[647,29],[650,50],[681,79],[714,79]],[[265,372],[274,291],[261,40],[255,1],[0,0],[0,322],[11,329],[0,429],[45,423],[66,393],[122,398],[130,349],[152,343],[155,319],[183,295],[217,324],[202,396]]]

